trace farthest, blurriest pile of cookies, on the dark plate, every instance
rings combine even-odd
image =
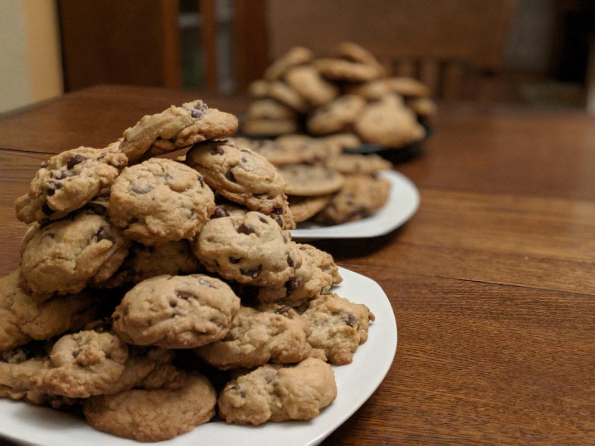
[[[420,122],[436,112],[424,84],[387,77],[374,55],[352,42],[318,59],[295,46],[250,85],[249,93],[255,100],[242,121],[248,136],[347,131],[365,143],[402,147],[425,137]]]

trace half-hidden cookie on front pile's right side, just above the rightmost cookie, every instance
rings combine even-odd
[[[283,287],[259,288],[256,299],[261,303],[277,303],[297,307],[305,301],[327,293],[333,285],[343,281],[339,268],[329,253],[309,244],[296,244],[302,255],[302,265]]]

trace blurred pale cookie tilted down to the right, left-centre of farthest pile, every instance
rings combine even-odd
[[[297,94],[315,107],[325,105],[339,96],[339,89],[324,80],[311,65],[291,68],[285,74],[285,81]]]

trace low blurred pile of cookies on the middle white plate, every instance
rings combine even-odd
[[[365,218],[386,203],[390,183],[377,173],[392,169],[375,154],[345,153],[359,145],[351,134],[315,138],[290,134],[275,140],[231,138],[277,167],[294,221],[336,225]]]

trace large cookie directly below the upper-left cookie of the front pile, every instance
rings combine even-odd
[[[128,246],[105,216],[84,209],[27,233],[21,278],[36,294],[78,293],[111,277],[124,262]]]

